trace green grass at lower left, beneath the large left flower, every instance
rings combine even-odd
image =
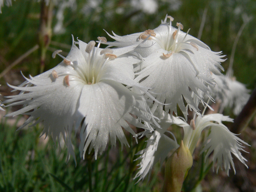
[[[138,161],[135,153],[145,147],[144,140],[135,145],[132,137],[130,148],[121,151],[120,146],[105,152],[94,159],[93,153],[80,158],[75,148],[77,166],[70,159],[66,162],[67,149],[60,150],[52,139],[44,142],[39,138],[39,126],[16,131],[2,121],[0,124],[0,191],[151,191],[156,184],[156,173],[150,184],[147,181],[135,185],[133,180]],[[73,142],[77,145],[77,140]],[[136,147],[133,147],[136,146]]]

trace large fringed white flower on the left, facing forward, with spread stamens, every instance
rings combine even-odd
[[[106,148],[108,138],[112,146],[116,145],[116,137],[122,147],[128,145],[122,128],[136,136],[129,124],[149,129],[148,124],[134,118],[137,116],[149,123],[152,116],[149,116],[150,110],[142,94],[128,89],[131,86],[141,88],[133,82],[132,64],[139,60],[124,54],[132,48],[111,50],[94,45],[93,41],[86,44],[73,39],[71,51],[66,58],[62,56],[64,60],[58,66],[26,78],[27,81],[18,87],[10,85],[21,92],[9,96],[4,103],[25,107],[6,116],[29,115],[20,128],[34,120],[34,124],[43,122],[43,134],[52,135],[54,141],[62,133],[68,152],[73,156],[70,134],[73,128],[77,131],[81,125],[79,148],[83,157],[87,148],[89,153],[94,148],[97,158],[98,151],[101,154]]]

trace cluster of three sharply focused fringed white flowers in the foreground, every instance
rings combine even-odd
[[[210,128],[202,151],[207,151],[206,157],[213,151],[217,171],[224,166],[228,174],[230,164],[234,168],[231,154],[245,164],[240,151],[248,144],[222,123],[232,119],[221,114],[204,115],[199,110],[199,105],[208,106],[203,95],[213,100],[216,82],[212,74],[222,76],[224,56],[183,32],[181,23],[176,28],[172,22],[166,15],[155,29],[126,36],[108,34],[114,42],[98,37],[96,47],[95,41],[87,44],[73,37],[67,57],[60,50],[53,53],[53,57],[58,54],[63,58],[55,68],[24,77],[26,81],[20,86],[9,85],[20,94],[8,96],[3,104],[24,107],[6,116],[28,115],[20,128],[42,122],[43,133],[52,135],[54,141],[61,133],[73,156],[72,130],[80,129],[81,156],[94,149],[95,158],[108,140],[112,146],[116,146],[116,138],[122,147],[129,146],[122,129],[136,140],[138,135],[147,135],[147,147],[138,153],[141,162],[136,177],[140,179],[159,159],[163,162],[179,147],[175,137],[164,134],[170,125],[184,129],[183,142],[191,154],[202,130]],[[100,44],[108,47],[101,49]],[[177,117],[177,106],[185,118]],[[186,121],[188,109],[196,114],[190,124]],[[145,131],[136,134],[134,126]]]

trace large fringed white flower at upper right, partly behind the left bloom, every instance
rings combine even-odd
[[[167,19],[170,22],[167,23]],[[162,24],[154,30],[135,33],[127,36],[111,36],[116,41],[107,42],[110,46],[125,47],[137,44],[135,49],[143,57],[142,65],[136,74],[135,80],[141,85],[150,87],[156,100],[152,112],[159,106],[165,111],[171,110],[177,114],[177,104],[183,114],[187,115],[188,106],[199,114],[199,109],[193,97],[204,102],[198,91],[201,90],[210,97],[212,85],[211,72],[220,74],[219,68],[221,52],[212,52],[210,48],[196,39],[181,31],[182,24],[177,23],[178,28],[171,26],[173,18],[166,16]],[[141,70],[142,69],[142,70]],[[192,93],[190,92],[192,91]],[[192,96],[193,97],[192,97]],[[161,110],[159,110],[161,115]]]

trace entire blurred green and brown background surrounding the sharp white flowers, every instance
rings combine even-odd
[[[230,58],[236,80],[248,89],[256,87],[256,1],[252,0],[0,0],[0,100],[4,96],[17,94],[6,83],[20,85],[24,76],[36,76],[55,67],[62,61],[52,58],[52,52],[63,50],[66,56],[72,44],[72,36],[88,43],[98,36],[107,37],[114,31],[123,36],[161,24],[165,15],[171,15],[174,23],[183,24],[183,31],[200,38],[212,51],[222,51],[227,60],[222,63],[226,73]],[[10,5],[12,3],[12,6]],[[47,8],[48,7],[48,8]],[[51,7],[49,9],[49,7]],[[48,39],[45,51],[41,46],[42,10],[51,10],[52,20],[46,20]],[[49,16],[49,15],[48,15]],[[40,20],[41,18],[41,20]],[[50,32],[49,32],[50,31]],[[45,31],[44,31],[45,32]],[[44,36],[45,37],[45,36]],[[239,37],[239,38],[237,38]],[[237,39],[237,40],[236,40]],[[232,57],[232,47],[236,44]],[[42,52],[44,56],[42,57]],[[15,109],[6,109],[6,111]],[[157,165],[149,182],[132,178],[136,173],[135,153],[145,147],[145,140],[134,145],[127,135],[130,148],[108,149],[97,160],[92,155],[92,164],[81,160],[76,150],[74,160],[66,163],[66,148],[44,136],[39,138],[42,126],[25,128],[16,132],[26,116],[4,118],[0,111],[0,191],[161,191],[164,168]],[[232,118],[232,110],[224,110]],[[239,136],[251,147],[243,153],[248,160],[248,169],[236,162],[229,177],[225,172],[209,173],[198,184],[200,151],[194,153],[194,165],[184,182],[184,191],[256,191],[256,120],[253,119]],[[178,138],[179,139],[179,138]],[[74,145],[79,136],[74,134]],[[77,147],[75,147],[77,149]],[[199,170],[200,171],[200,170]]]

